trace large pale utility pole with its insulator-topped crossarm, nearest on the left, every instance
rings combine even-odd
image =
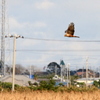
[[[12,74],[12,91],[14,91],[14,84],[15,84],[15,61],[16,61],[16,39],[17,38],[24,38],[23,36],[20,36],[20,35],[17,35],[17,34],[14,34],[14,35],[7,35],[5,36],[5,38],[7,37],[10,37],[10,38],[13,38],[13,74]]]

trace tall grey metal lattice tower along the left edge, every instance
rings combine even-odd
[[[2,0],[2,21],[1,21],[1,69],[0,73],[4,75],[5,65],[5,0]]]

